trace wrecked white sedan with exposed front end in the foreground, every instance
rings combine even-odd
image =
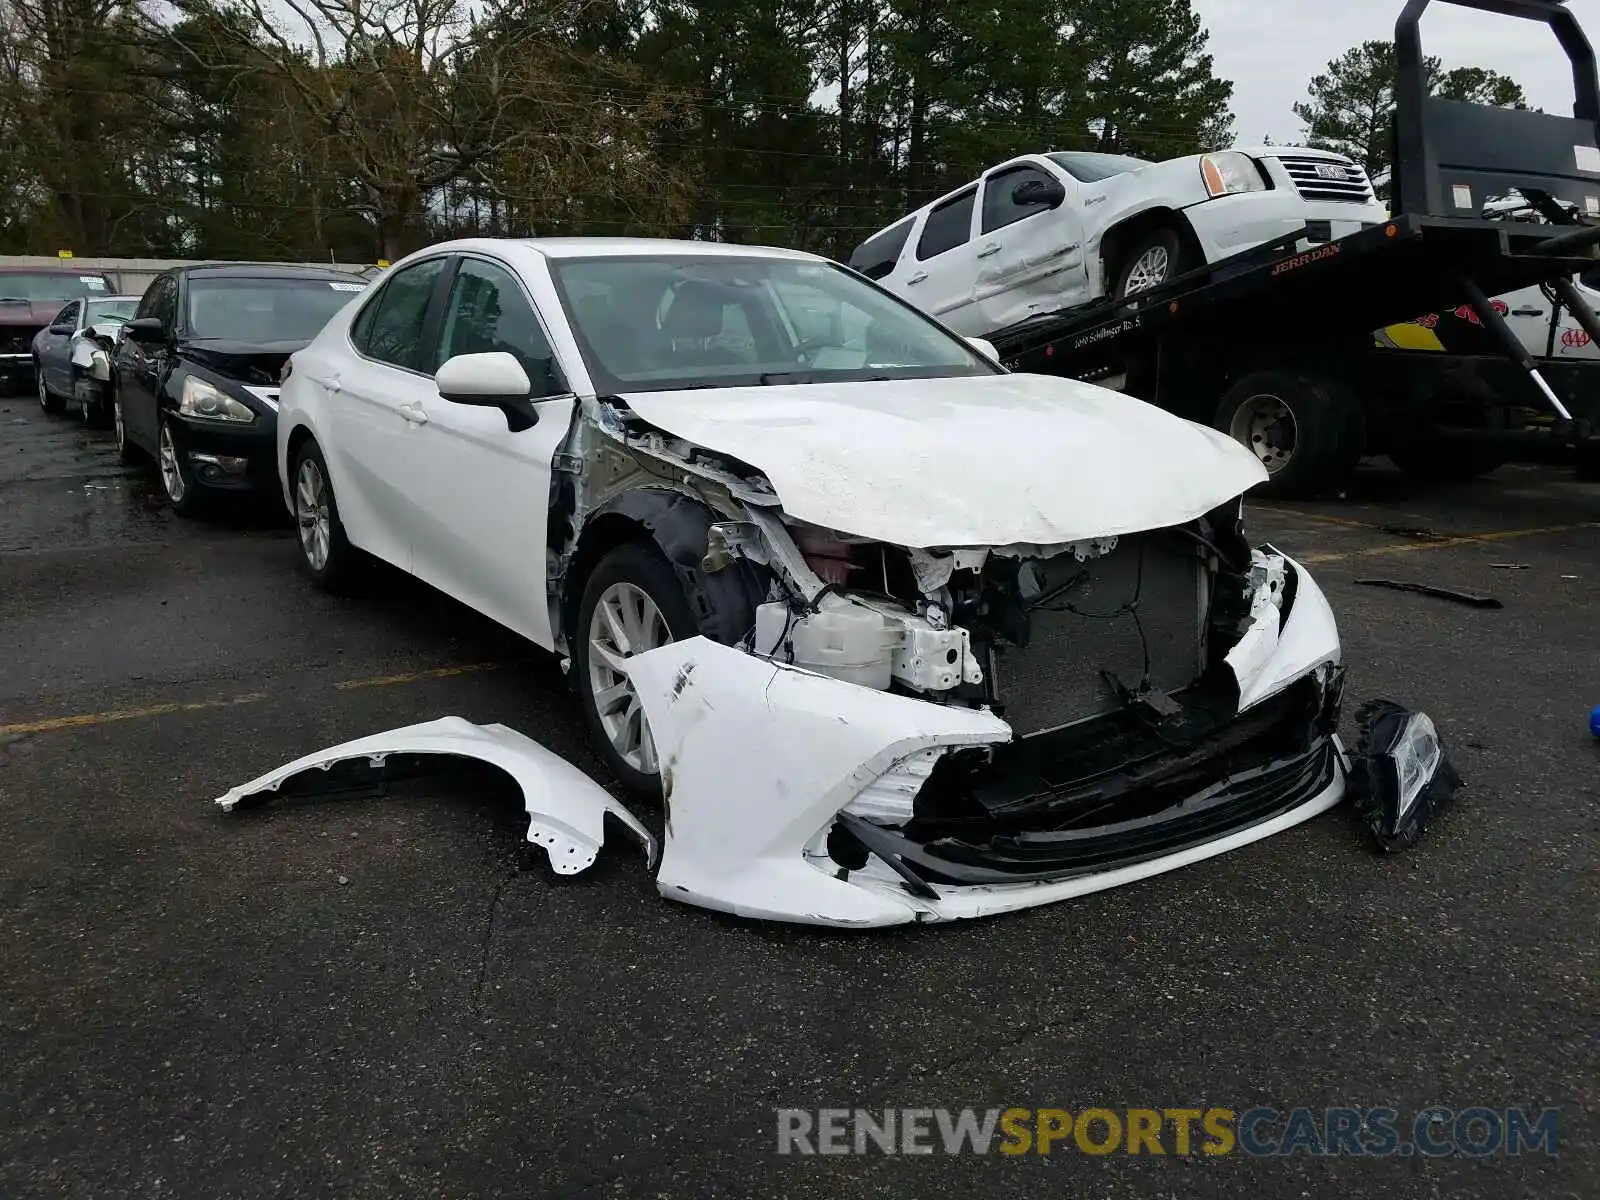
[[[1346,795],[1338,630],[1245,539],[1256,458],[810,254],[430,246],[293,357],[278,462],[318,582],[376,555],[568,661],[670,899],[981,917]],[[494,736],[587,866],[614,802]]]

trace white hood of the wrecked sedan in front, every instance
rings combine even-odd
[[[790,517],[918,549],[1158,530],[1267,478],[1214,429],[1043,374],[621,398],[653,426],[765,474]]]

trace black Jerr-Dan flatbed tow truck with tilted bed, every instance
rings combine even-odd
[[[1582,336],[1574,278],[1600,267],[1600,72],[1565,0],[1442,0],[1547,24],[1571,117],[1427,94],[1421,19],[1395,26],[1392,216],[1330,240],[1302,229],[1125,301],[1032,317],[987,341],[1022,371],[1069,374],[1213,424],[1278,496],[1339,488],[1366,454],[1470,478],[1509,459],[1600,464],[1600,360],[1534,355],[1501,296],[1538,290]],[[1534,221],[1507,221],[1517,197]],[[1504,206],[1504,205],[1501,205]]]

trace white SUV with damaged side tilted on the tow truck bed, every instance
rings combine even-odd
[[[1163,163],[1026,154],[859,245],[850,266],[944,325],[984,336],[1029,317],[1165,283],[1310,226],[1382,224],[1366,171],[1266,146]]]

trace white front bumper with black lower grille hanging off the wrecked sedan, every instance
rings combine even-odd
[[[667,794],[658,888],[810,925],[944,922],[1120,886],[1309,821],[1344,800],[1347,760],[1338,632],[1296,576],[1286,616],[1258,614],[1269,645],[1238,667],[1227,712],[1190,698],[1205,728],[1176,747],[1093,723],[1062,733],[1077,747],[1018,741],[984,709],[706,638],[640,654],[629,674]]]

